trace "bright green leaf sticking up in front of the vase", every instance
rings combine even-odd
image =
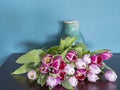
[[[72,46],[74,44],[74,42],[76,41],[76,39],[77,39],[76,37],[72,37],[72,38],[67,37],[64,40],[61,39],[61,41],[60,41],[60,49],[64,50],[64,49]]]

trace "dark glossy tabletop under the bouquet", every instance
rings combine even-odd
[[[21,53],[10,55],[8,60],[0,67],[0,90],[48,90],[48,87],[40,87],[36,83],[29,83],[25,76],[14,75],[10,73],[17,69],[20,65],[16,64],[16,59],[21,56]],[[118,79],[111,83],[105,79],[99,80],[96,83],[79,82],[75,90],[120,90],[120,54],[113,54],[113,58],[105,61],[107,65],[113,68]],[[55,87],[54,90],[65,90],[62,86]]]

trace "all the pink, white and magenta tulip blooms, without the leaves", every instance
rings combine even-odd
[[[47,54],[42,59],[42,64],[39,66],[39,71],[42,74],[48,74],[46,84],[51,88],[62,81],[68,80],[69,84],[76,87],[78,81],[87,79],[90,82],[96,82],[99,79],[99,74],[102,72],[103,61],[112,57],[111,52],[103,52],[101,54],[86,54],[78,58],[78,53],[71,50],[66,54],[65,62],[62,56],[55,56]],[[36,72],[31,70],[28,72],[28,78],[35,80],[37,78]],[[114,71],[108,70],[104,74],[105,78],[110,81],[116,81],[117,75]]]

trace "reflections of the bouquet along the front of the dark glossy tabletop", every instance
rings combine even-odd
[[[30,82],[25,76],[13,75],[13,78],[20,84],[28,87],[28,90],[48,90],[47,86],[41,87],[36,82]],[[57,85],[54,90],[66,90],[61,85]],[[95,83],[88,81],[79,82],[78,86],[74,90],[117,90],[117,85],[115,82],[108,82],[104,79],[98,80]]]

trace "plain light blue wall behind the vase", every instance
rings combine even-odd
[[[11,53],[57,44],[64,20],[80,22],[91,50],[120,52],[120,0],[0,0],[0,64]]]

